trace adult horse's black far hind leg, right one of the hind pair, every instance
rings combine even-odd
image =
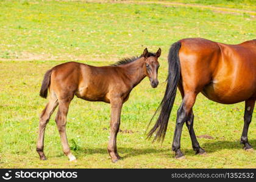
[[[191,138],[194,151],[196,151],[196,154],[202,155],[205,153],[205,150],[199,146],[199,143],[196,139],[196,133],[194,133],[193,124],[194,124],[194,114],[193,114],[193,110],[191,109],[191,113],[190,113],[190,116],[188,116],[186,125],[188,127],[188,132],[190,132],[190,138]]]

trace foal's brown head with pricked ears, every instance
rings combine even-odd
[[[144,57],[144,74],[148,76],[151,86],[153,88],[158,86],[158,80],[157,80],[157,72],[159,68],[159,62],[157,59],[161,55],[161,49],[159,48],[157,50],[157,53],[149,53],[148,49],[144,49],[143,54],[141,57]]]

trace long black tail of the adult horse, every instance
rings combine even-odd
[[[165,90],[165,96],[163,96],[160,106],[158,106],[157,111],[154,113],[154,116],[160,111],[160,115],[157,118],[157,122],[154,127],[149,131],[148,138],[156,132],[154,141],[163,141],[165,139],[165,133],[168,126],[169,116],[171,109],[176,97],[177,86],[180,80],[180,59],[179,59],[179,50],[181,43],[180,41],[175,42],[171,45],[168,55],[168,77],[166,79],[167,86]],[[151,121],[153,120],[152,117]],[[151,123],[150,121],[150,123]],[[149,123],[149,124],[150,124]]]

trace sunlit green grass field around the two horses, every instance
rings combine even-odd
[[[244,103],[222,105],[201,94],[194,106],[194,129],[207,156],[196,156],[187,127],[183,127],[185,160],[171,152],[178,94],[163,144],[146,140],[145,129],[165,92],[169,46],[182,38],[202,37],[228,44],[255,39],[255,1],[0,1],[0,167],[1,168],[227,168],[256,167],[255,152],[240,144]],[[161,1],[163,2],[163,1]],[[233,12],[215,5],[236,8]],[[247,12],[249,11],[249,12]],[[38,115],[46,99],[39,90],[46,70],[66,61],[104,66],[126,56],[140,55],[148,47],[162,48],[158,79],[152,89],[144,79],[130,94],[121,115],[118,150],[123,160],[111,163],[107,153],[110,108],[74,98],[68,113],[67,135],[76,163],[63,155],[52,115],[45,133],[40,161],[35,151]],[[249,142],[256,148],[256,118]]]

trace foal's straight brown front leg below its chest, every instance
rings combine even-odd
[[[116,163],[120,157],[116,148],[116,136],[120,125],[120,115],[123,106],[123,100],[121,98],[111,99],[111,121],[110,121],[110,138],[108,141],[107,150],[113,163]]]

